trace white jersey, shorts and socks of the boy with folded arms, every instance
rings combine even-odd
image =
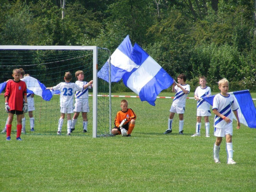
[[[211,96],[211,88],[206,86],[206,88],[201,88],[201,86],[198,86],[194,92],[194,95],[199,97],[200,100],[197,101],[197,116],[211,116],[210,111],[210,104],[203,100],[202,98],[205,96]],[[206,137],[210,137],[210,123],[205,123],[205,129],[206,129]],[[196,134],[192,135],[199,136],[201,135],[201,122],[196,124]]]

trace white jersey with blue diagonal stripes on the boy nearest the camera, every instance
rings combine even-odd
[[[232,111],[236,111],[238,108],[239,108],[238,104],[233,95],[228,95],[228,97],[225,97],[219,93],[215,95],[213,99],[213,109],[217,109],[217,111],[220,114],[228,117],[232,122],[233,122]],[[224,119],[215,115],[214,127],[231,128],[233,126],[232,126],[232,123],[227,123]]]

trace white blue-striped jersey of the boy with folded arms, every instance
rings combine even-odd
[[[197,95],[200,99],[205,96],[211,96],[211,88],[201,88],[201,86],[197,87],[197,89],[194,92],[194,95]],[[210,104],[206,102],[205,100],[198,100],[197,101],[197,110],[199,111],[209,111],[210,110]]]

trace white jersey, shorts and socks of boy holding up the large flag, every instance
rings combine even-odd
[[[187,94],[190,93],[190,85],[185,84],[185,85],[181,85],[185,90],[188,91]],[[177,114],[184,114],[185,112],[185,104],[186,104],[186,100],[187,100],[187,94],[185,94],[183,92],[183,90],[181,88],[179,88],[177,85],[175,85],[175,96],[173,99],[173,103],[171,105],[171,109],[170,112],[173,113],[177,113]],[[172,132],[172,123],[173,123],[173,119],[169,119],[168,118],[168,129],[166,130],[166,133],[171,133]],[[184,126],[184,120],[180,120],[179,122],[179,133],[183,134],[183,126]]]

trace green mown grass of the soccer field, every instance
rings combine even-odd
[[[128,94],[134,95],[114,93]],[[161,96],[173,96],[173,93],[161,93]],[[256,98],[256,94],[252,97]],[[112,98],[113,119],[120,110],[121,99]],[[256,129],[242,125],[236,130],[234,122],[233,149],[237,164],[226,164],[225,140],[220,146],[222,163],[215,164],[213,116],[211,137],[204,137],[204,126],[201,137],[190,137],[195,132],[195,100],[187,100],[184,135],[178,134],[177,115],[173,133],[163,134],[172,99],[157,99],[156,107],[138,98],[127,100],[128,107],[137,114],[132,137],[92,138],[91,130],[85,137],[59,136],[55,135],[56,127],[52,135],[21,135],[21,142],[15,140],[14,132],[10,142],[5,140],[5,134],[0,134],[0,191],[255,191]],[[1,113],[3,116],[4,111]],[[51,114],[57,119],[59,115],[59,111]],[[52,121],[46,123],[53,126]]]

